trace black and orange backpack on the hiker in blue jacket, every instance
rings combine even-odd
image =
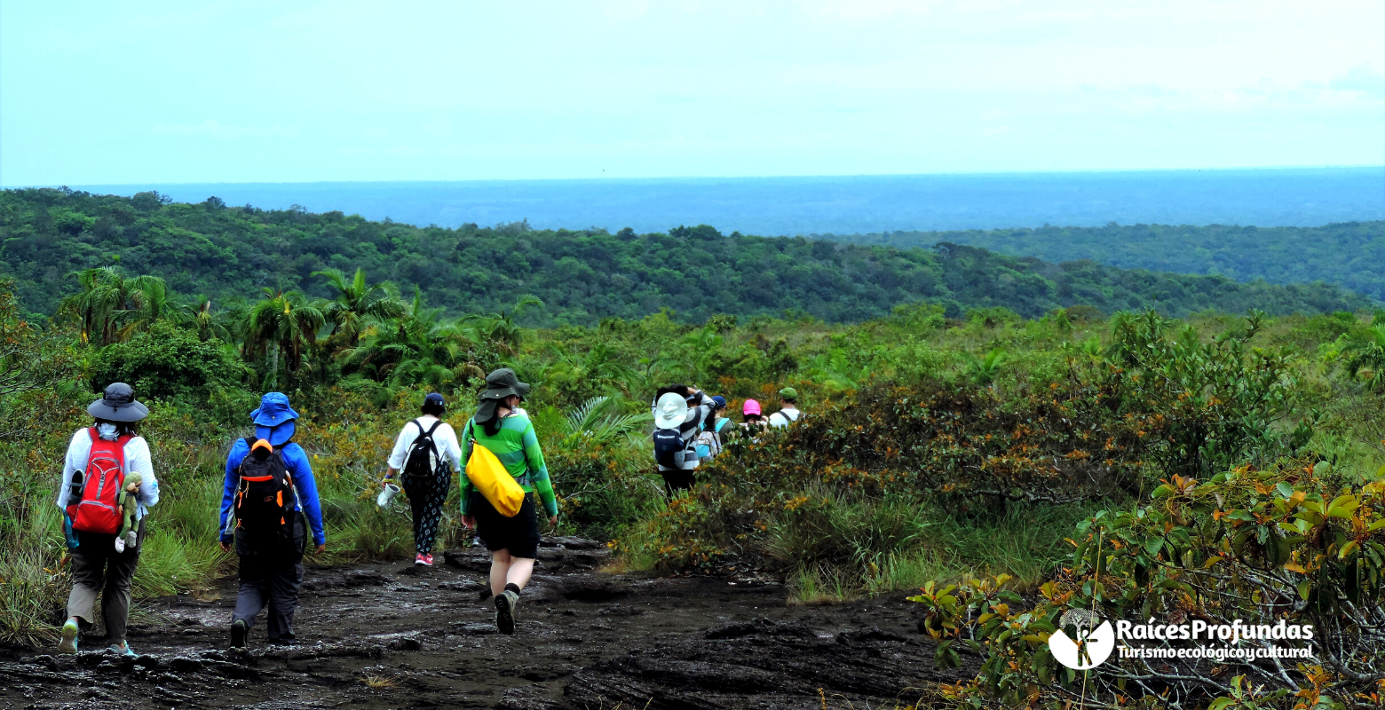
[[[292,544],[298,501],[284,453],[263,439],[245,437],[245,443],[251,453],[237,469],[235,527],[252,547]]]

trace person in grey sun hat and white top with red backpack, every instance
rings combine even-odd
[[[101,621],[105,624],[111,650],[134,656],[125,639],[130,613],[130,580],[144,548],[144,518],[159,502],[159,482],[154,477],[150,444],[134,422],[150,410],[134,399],[134,389],[112,382],[101,399],[87,407],[94,419],[79,429],[68,444],[62,465],[58,509],[72,556],[72,594],[68,595],[68,620],[62,624],[58,650],[78,652],[78,634],[96,623],[97,594],[101,595]],[[137,480],[137,483],[136,483]],[[134,495],[137,522],[134,544],[116,548],[122,526],[119,494]]]

